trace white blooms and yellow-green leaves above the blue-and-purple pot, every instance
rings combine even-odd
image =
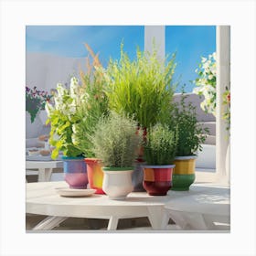
[[[74,129],[76,123],[80,123],[80,112],[86,111],[88,94],[79,81],[72,77],[69,89],[62,84],[57,85],[57,92],[53,95],[54,103],[47,102],[47,124],[51,124],[49,144],[55,149],[51,157],[56,159],[59,151],[66,156],[81,156],[80,146],[75,142]]]

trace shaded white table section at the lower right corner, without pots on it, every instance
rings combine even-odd
[[[189,191],[172,191],[172,199],[165,205],[163,227],[170,218],[180,229],[218,229],[216,223],[229,228],[229,186],[197,184]]]

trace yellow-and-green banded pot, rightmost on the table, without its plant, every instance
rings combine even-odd
[[[173,172],[172,190],[186,191],[196,179],[196,158],[197,155],[177,156]]]

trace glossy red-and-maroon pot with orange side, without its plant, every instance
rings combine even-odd
[[[165,196],[172,187],[175,165],[144,165],[144,189],[150,196]]]

